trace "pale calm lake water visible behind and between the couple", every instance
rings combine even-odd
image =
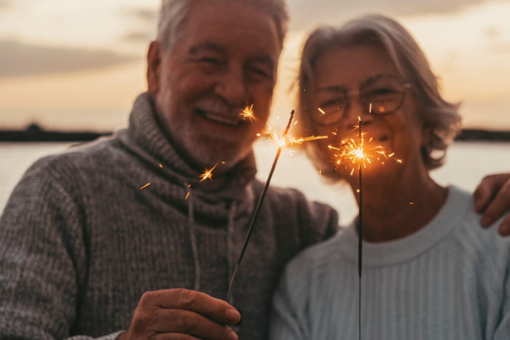
[[[0,143],[0,211],[25,170],[44,155],[58,153],[72,143]],[[265,181],[271,169],[276,148],[267,141],[254,145],[258,164],[257,176]],[[442,185],[454,184],[472,191],[481,178],[490,173],[510,171],[510,143],[455,142],[448,149],[446,164],[431,172]],[[341,224],[356,215],[357,206],[350,188],[323,182],[304,153],[284,149],[273,174],[271,184],[292,187],[309,199],[335,207]]]

